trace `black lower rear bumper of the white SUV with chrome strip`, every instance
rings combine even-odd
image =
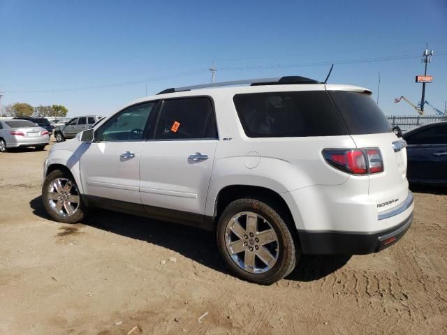
[[[376,253],[399,241],[413,222],[413,193],[394,209],[381,212],[377,221],[395,223],[376,232],[299,230],[302,252],[310,255],[365,255]],[[396,220],[397,221],[396,224]]]

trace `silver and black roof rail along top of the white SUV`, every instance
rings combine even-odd
[[[164,89],[158,94],[191,91],[191,89],[206,89],[209,87],[235,86],[243,84],[249,84],[251,86],[261,86],[261,85],[283,85],[283,84],[321,84],[321,82],[296,75],[296,76],[286,76],[276,78],[233,80],[230,82],[214,82],[209,84],[200,84],[193,86],[173,87],[170,89]]]

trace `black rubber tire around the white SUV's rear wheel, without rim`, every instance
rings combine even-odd
[[[242,269],[242,267],[233,261],[226,246],[226,228],[228,223],[234,216],[244,211],[253,212],[265,218],[277,235],[277,242],[274,242],[279,246],[276,263],[274,263],[271,269],[265,270],[263,273],[255,274]],[[298,241],[293,237],[292,223],[289,221],[291,219],[288,218],[288,215],[282,213],[279,207],[274,205],[270,206],[266,202],[261,202],[253,198],[239,199],[228,204],[217,223],[217,245],[223,260],[233,274],[245,281],[261,285],[270,285],[290,274],[295,269],[295,264],[300,258],[301,251],[298,246]],[[256,237],[256,235],[254,236]],[[241,241],[244,240],[241,239]],[[260,246],[260,248],[263,248],[263,246]],[[251,249],[253,250],[253,248]],[[244,253],[246,252],[247,250],[244,251]],[[256,253],[256,251],[254,252]]]

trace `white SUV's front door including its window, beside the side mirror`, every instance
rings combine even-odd
[[[80,158],[82,187],[89,201],[141,210],[140,154],[156,102],[128,107],[95,129]]]

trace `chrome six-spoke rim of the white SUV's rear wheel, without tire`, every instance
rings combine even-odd
[[[277,233],[262,216],[243,211],[230,219],[225,230],[230,258],[251,274],[262,274],[274,267],[279,256]]]

